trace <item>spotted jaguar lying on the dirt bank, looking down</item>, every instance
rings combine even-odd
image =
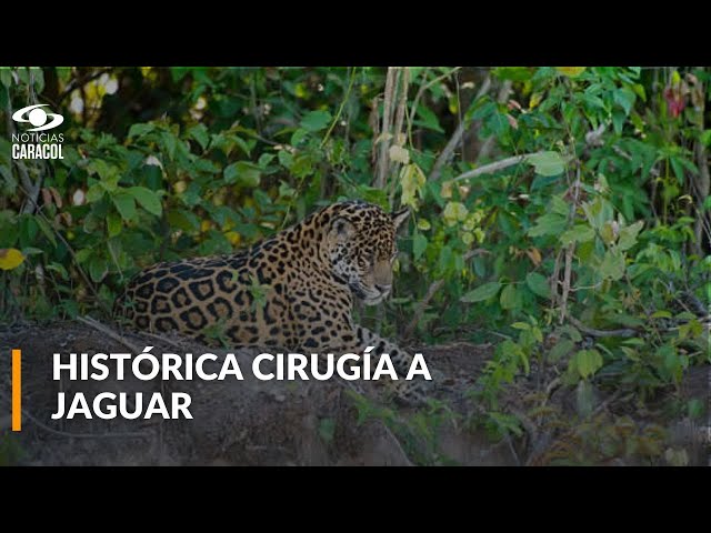
[[[374,346],[371,356],[388,353],[398,373],[395,400],[422,403],[428,383],[402,380],[412,355],[352,316],[354,299],[377,305],[391,293],[397,232],[408,217],[360,200],[333,203],[231,255],[144,269],[114,314],[134,330],[204,343],[217,329],[232,348],[362,354]]]

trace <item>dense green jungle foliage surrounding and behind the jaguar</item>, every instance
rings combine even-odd
[[[639,405],[711,362],[710,95],[709,68],[4,68],[0,320],[109,320],[156,261],[339,199],[409,207],[394,295],[361,322],[492,342],[469,422],[499,438],[549,414],[501,402],[535,372],[543,396],[575,390],[569,459],[655,456],[627,421],[595,426],[593,396]],[[10,158],[34,103],[64,117],[63,160]]]

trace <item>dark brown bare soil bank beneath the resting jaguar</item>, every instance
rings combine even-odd
[[[106,381],[53,381],[52,354],[60,352],[126,353],[128,345],[152,345],[153,354],[214,353],[177,336],[156,338],[123,333],[120,342],[107,333],[80,322],[54,323],[50,326],[0,326],[0,464],[27,465],[409,465],[413,463],[462,465],[539,464],[535,456],[555,444],[549,436],[524,434],[520,439],[493,442],[483,430],[472,430],[462,421],[477,408],[468,399],[483,365],[491,358],[490,345],[454,343],[441,346],[409,346],[422,352],[435,378],[433,396],[461,415],[445,420],[437,430],[437,446],[423,461],[418,442],[407,442],[377,419],[358,423],[352,389],[373,405],[384,405],[381,388],[372,382],[340,379],[319,381],[259,381],[251,371],[251,360],[260,351],[240,351],[238,360],[243,381],[228,376],[223,381],[140,381],[130,372],[117,381],[112,372]],[[23,426],[10,433],[10,349],[22,349]],[[267,350],[267,352],[270,352]],[[136,353],[136,352],[134,352]],[[272,353],[272,352],[270,352]],[[206,372],[219,372],[221,362],[206,364]],[[530,408],[529,380],[520,380],[505,394],[507,410]],[[89,401],[99,392],[153,392],[169,398],[171,392],[187,392],[192,398],[193,420],[52,420],[57,411],[57,393],[83,392]],[[692,369],[682,386],[684,398],[708,402],[708,368]],[[561,412],[570,411],[574,391],[555,392],[550,403]],[[604,398],[598,405],[604,409]],[[402,419],[415,411],[400,408]],[[611,413],[613,415],[614,413]],[[642,413],[638,419],[644,419]],[[647,420],[642,420],[647,422]],[[651,423],[651,422],[650,422]],[[707,464],[705,436],[698,423],[684,416],[665,421],[672,450],[684,450],[689,464]],[[532,433],[535,430],[531,430]],[[421,444],[421,443],[420,443]],[[413,447],[414,446],[414,447]],[[19,452],[19,453],[16,453]],[[4,454],[4,457],[3,457]],[[431,457],[435,457],[432,460]],[[618,464],[634,461],[618,461]]]

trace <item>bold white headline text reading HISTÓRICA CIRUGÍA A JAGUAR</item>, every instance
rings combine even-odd
[[[162,381],[192,381],[194,379],[203,381],[222,381],[234,379],[242,381],[244,375],[234,353],[224,355],[219,372],[207,372],[207,362],[217,363],[220,359],[213,353],[203,353],[194,356],[192,353],[179,355],[176,353],[151,354],[153,346],[146,349],[138,355],[130,353],[69,353],[69,361],[62,362],[62,354],[54,353],[52,361],[52,379],[60,381],[68,378],[70,381],[103,381],[112,374],[118,381],[123,381],[127,374],[131,374],[138,380],[150,381],[160,379]],[[333,353],[260,353],[249,365],[250,371],[259,381],[294,381],[294,380],[317,380],[326,381],[339,376],[347,381],[354,380],[380,380],[389,378],[399,380],[395,368],[388,353],[382,353],[378,358],[371,355],[374,346],[368,346],[362,354],[344,353],[336,355]],[[320,364],[324,363],[324,364]],[[427,368],[427,363],[421,353],[415,353],[412,358],[410,369],[404,376],[405,381],[411,381],[418,376],[431,381],[432,376]],[[163,394],[154,392],[143,402],[143,394],[138,392],[129,394],[120,392],[101,392],[93,396],[91,402],[87,400],[83,392],[73,393],[68,398],[67,392],[59,392],[57,396],[57,412],[51,415],[53,420],[68,419],[82,415],[92,419],[111,420],[117,416],[133,419],[150,419],[153,415],[163,419],[192,419],[190,394],[184,392],[171,392],[169,402]],[[131,396],[129,399],[129,396]],[[130,401],[129,401],[130,400]]]

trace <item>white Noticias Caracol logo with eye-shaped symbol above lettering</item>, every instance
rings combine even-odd
[[[62,133],[42,133],[53,130],[64,118],[59,113],[48,113],[42,108],[47,103],[38,103],[18,109],[12,113],[12,120],[18,123],[30,123],[24,133],[12,133],[12,159],[64,159],[62,155]],[[49,120],[49,122],[48,122]]]

